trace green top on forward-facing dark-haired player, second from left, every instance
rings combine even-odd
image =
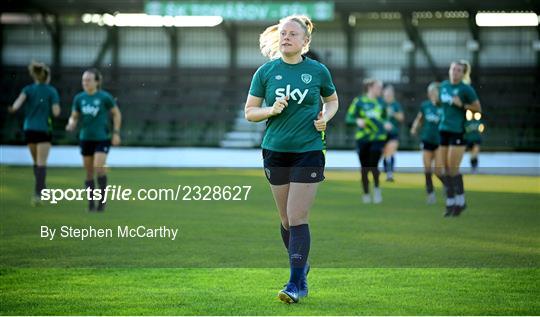
[[[93,95],[81,92],[73,99],[72,110],[81,115],[79,139],[83,141],[104,141],[111,138],[109,112],[116,107],[111,94],[98,90]]]

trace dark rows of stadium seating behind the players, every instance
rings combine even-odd
[[[83,68],[62,68],[53,73],[52,84],[61,97],[62,114],[54,121],[56,144],[75,144],[76,134],[66,133],[73,97],[81,91]],[[122,137],[132,146],[218,146],[245,102],[255,69],[179,68],[102,69],[104,89],[118,100],[123,114]],[[540,150],[539,74],[531,68],[490,68],[478,72],[473,83],[483,106],[486,124],[484,148],[493,150]],[[363,73],[331,69],[340,97],[340,110],[327,133],[328,146],[353,146],[353,128],[344,117],[351,100],[360,93]],[[438,69],[444,76],[447,69]],[[403,76],[408,76],[403,70]],[[415,70],[415,84],[396,84],[398,101],[404,107],[406,124],[402,128],[402,148],[417,149],[418,140],[408,134],[425,90],[434,80],[428,69]],[[4,67],[0,95],[0,141],[20,144],[22,112],[8,115],[11,104],[31,79],[24,67]]]

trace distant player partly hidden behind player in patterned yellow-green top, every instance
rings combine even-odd
[[[405,120],[403,109],[401,104],[396,101],[396,94],[394,86],[387,85],[383,89],[383,105],[386,106],[386,115],[388,121],[392,125],[392,129],[388,131],[386,144],[384,146],[383,154],[383,166],[386,173],[386,181],[394,181],[394,154],[399,147],[399,131],[401,130],[401,124]]]

